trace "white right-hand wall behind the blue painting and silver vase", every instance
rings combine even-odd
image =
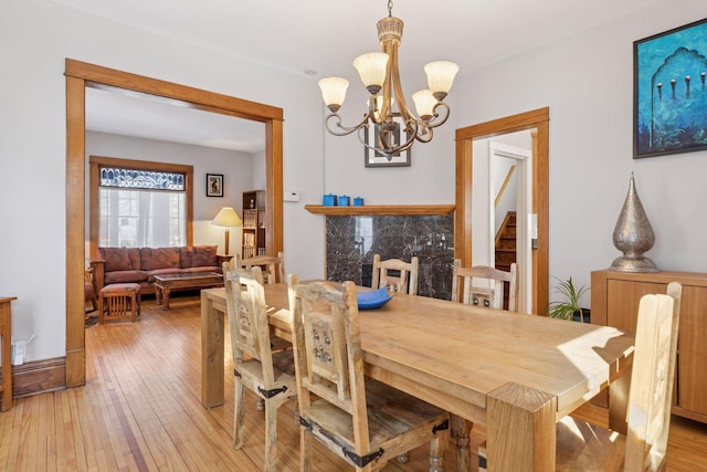
[[[621,255],[612,233],[632,171],[655,231],[646,255],[664,270],[707,270],[707,153],[632,159],[633,41],[705,13],[704,0],[655,2],[455,84],[457,127],[550,107],[551,276],[589,284],[592,270]]]

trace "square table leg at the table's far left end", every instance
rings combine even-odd
[[[201,291],[201,405],[223,405],[223,313],[213,307],[208,291]]]

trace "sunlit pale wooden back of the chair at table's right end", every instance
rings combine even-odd
[[[626,471],[662,470],[671,423],[682,286],[644,295],[639,305],[629,394]]]

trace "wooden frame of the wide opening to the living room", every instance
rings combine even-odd
[[[283,109],[214,92],[66,59],[66,378],[86,382],[84,260],[86,186],[86,86],[135,91],[198,109],[265,124],[265,210],[268,254],[283,250]]]

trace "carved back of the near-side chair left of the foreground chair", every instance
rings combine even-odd
[[[223,263],[224,270],[228,262]],[[234,368],[246,357],[257,359],[263,369],[265,389],[274,384],[267,306],[260,266],[235,269],[224,276],[226,312],[231,331]]]

